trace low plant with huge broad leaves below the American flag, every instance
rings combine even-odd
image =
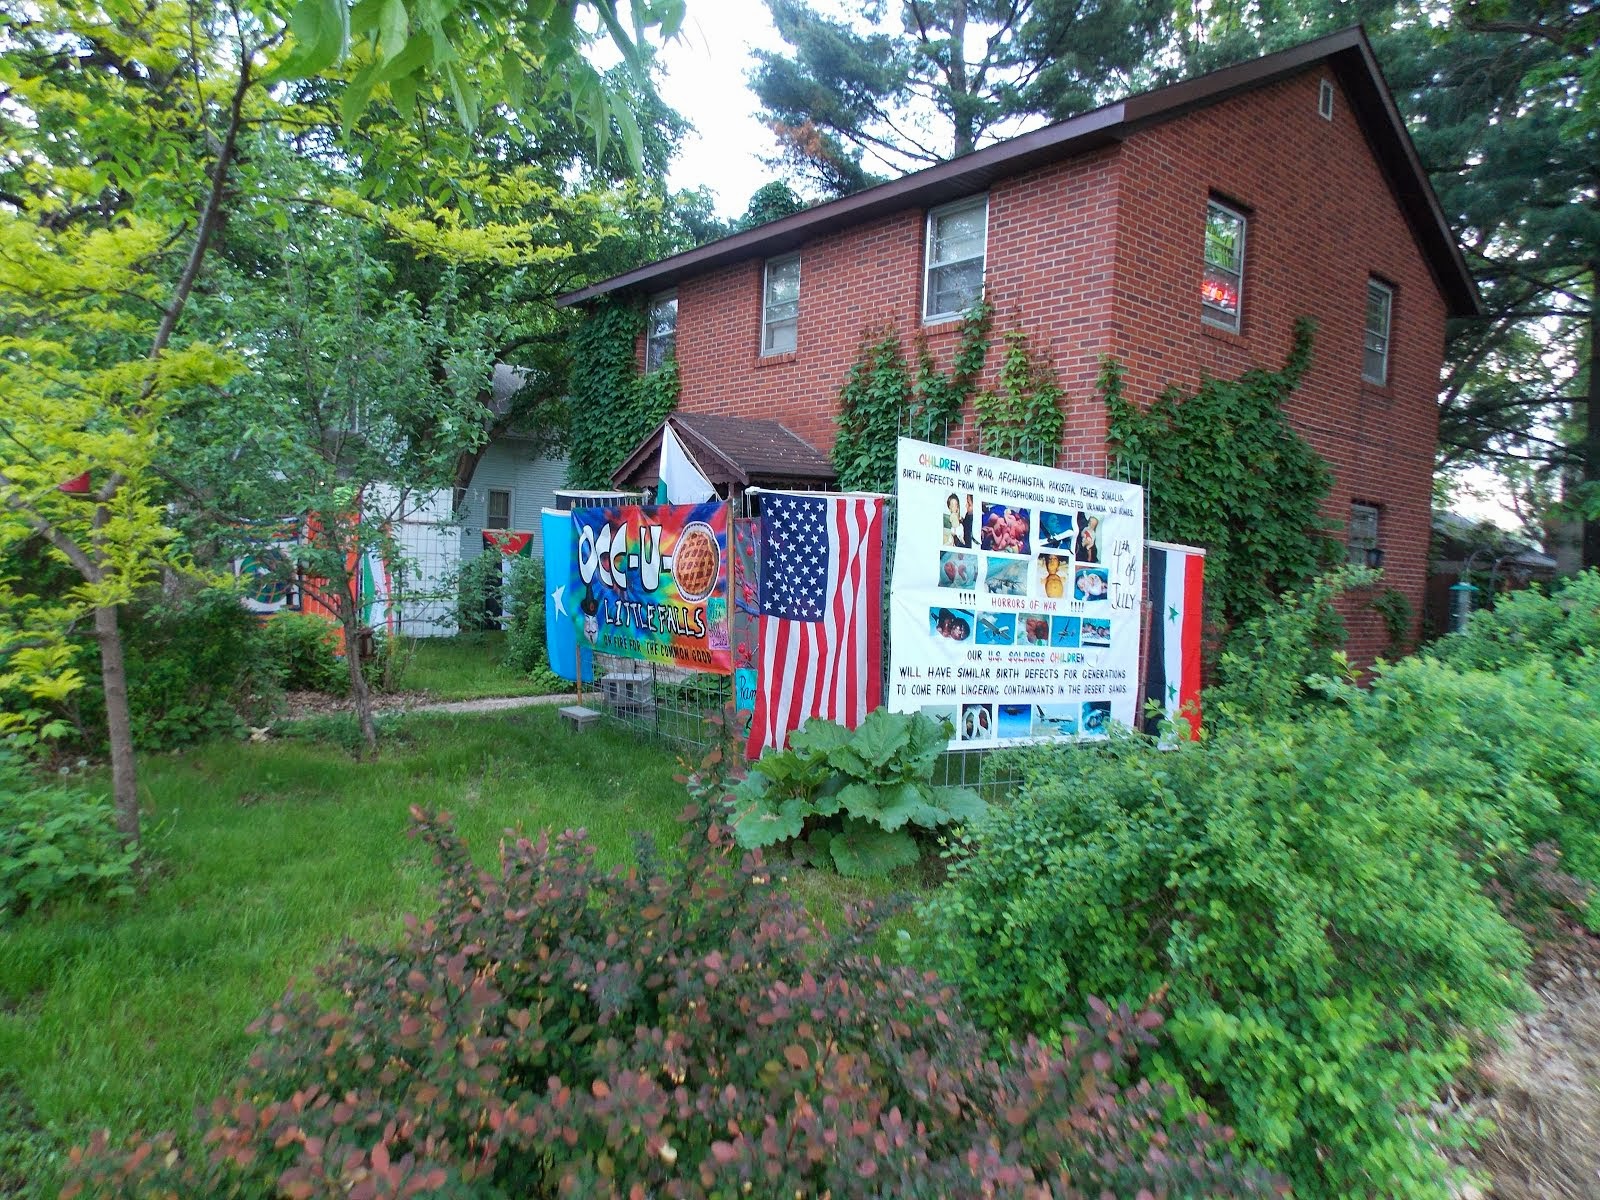
[[[854,733],[813,717],[768,752],[733,789],[733,835],[755,850],[805,840],[840,875],[883,875],[918,859],[912,827],[939,829],[982,816],[971,787],[934,786],[950,739],[941,722],[877,709]]]

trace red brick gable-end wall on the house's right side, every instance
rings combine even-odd
[[[1125,144],[1117,354],[1130,394],[1149,402],[1170,382],[1194,387],[1202,373],[1280,365],[1296,317],[1314,317],[1312,368],[1290,419],[1333,466],[1326,515],[1341,541],[1350,501],[1379,506],[1386,584],[1421,619],[1445,306],[1342,93],[1331,123],[1318,115],[1323,78],[1333,82],[1309,70]],[[1211,194],[1250,216],[1238,334],[1200,320]],[[1395,288],[1386,387],[1362,381],[1371,275]],[[1387,650],[1373,613],[1352,608],[1347,624],[1358,661]]]

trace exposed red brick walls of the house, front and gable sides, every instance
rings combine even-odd
[[[1387,582],[1421,613],[1437,434],[1443,302],[1342,94],[1317,112],[1314,69],[1134,134],[1107,149],[998,182],[989,194],[989,298],[995,333],[1024,328],[1069,395],[1061,466],[1106,466],[1094,379],[1104,354],[1134,398],[1168,384],[1277,366],[1294,318],[1317,320],[1312,370],[1290,418],[1334,469],[1328,517],[1376,502]],[[1331,78],[1331,75],[1326,75]],[[1206,198],[1248,210],[1238,334],[1200,320]],[[802,246],[797,350],[758,354],[762,262],[678,286],[685,411],[779,419],[834,443],[838,390],[864,336],[899,330],[914,362],[925,333],[941,363],[958,325],[922,326],[922,210]],[[1362,382],[1366,278],[1395,286],[1387,387]],[[990,355],[992,378],[997,355]],[[1386,648],[1370,613],[1350,619],[1362,661]]]

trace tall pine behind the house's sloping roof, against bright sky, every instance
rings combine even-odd
[[[899,0],[894,32],[861,32],[805,0],[766,6],[792,51],[757,51],[752,88],[779,160],[834,195],[1094,107],[1154,53],[1168,14],[1154,0]],[[880,22],[885,5],[859,11]]]

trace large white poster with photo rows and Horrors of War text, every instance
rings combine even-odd
[[[910,438],[896,475],[890,707],[958,749],[1133,725],[1144,491]]]

